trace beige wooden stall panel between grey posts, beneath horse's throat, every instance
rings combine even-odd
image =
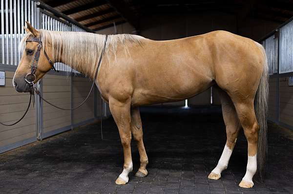
[[[70,77],[63,75],[45,75],[43,97],[50,103],[62,108],[70,108]],[[70,110],[60,110],[43,102],[43,132],[70,126]]]

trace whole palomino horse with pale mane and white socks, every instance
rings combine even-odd
[[[27,41],[28,38],[42,38],[35,83],[51,69],[48,59],[94,78],[105,35],[36,30],[29,23],[26,31],[22,40],[24,52],[13,79],[17,91],[30,90],[24,78],[31,71],[39,43]],[[221,93],[227,142],[209,179],[219,179],[227,168],[240,128],[248,141],[248,163],[239,186],[253,186],[257,164],[259,174],[264,173],[268,65],[265,50],[259,43],[226,31],[170,41],[129,34],[110,35],[95,83],[102,98],[109,103],[123,146],[124,169],[116,184],[126,184],[132,171],[131,133],[140,154],[140,168],[135,175],[147,175],[148,159],[139,107],[181,101],[214,85]]]

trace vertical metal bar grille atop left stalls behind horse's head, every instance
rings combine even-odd
[[[0,0],[0,5],[0,63],[2,64],[19,64],[22,51],[18,47],[25,35],[23,29],[25,21],[45,30],[86,32],[83,28],[40,9],[34,0]],[[71,68],[62,63],[56,63],[55,66],[60,71],[71,72]],[[73,72],[77,73],[77,71]]]

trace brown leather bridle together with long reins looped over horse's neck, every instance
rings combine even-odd
[[[103,55],[104,55],[104,52],[105,52],[105,47],[106,47],[106,43],[107,43],[107,39],[108,39],[108,36],[105,35],[105,43],[104,43],[104,48],[102,50],[102,53],[101,53],[101,56],[100,56],[100,59],[99,59],[99,62],[98,62],[98,65],[97,65],[97,69],[96,69],[96,73],[95,73],[95,77],[94,77],[94,80],[93,80],[93,83],[92,83],[92,86],[90,88],[90,91],[88,92],[86,98],[84,99],[84,101],[77,107],[75,108],[60,108],[60,107],[57,107],[56,105],[53,105],[52,103],[48,102],[47,100],[45,100],[40,91],[35,87],[34,85],[34,82],[36,81],[37,79],[37,76],[36,76],[36,71],[37,71],[37,68],[38,68],[38,63],[39,63],[39,59],[40,59],[40,53],[41,53],[41,49],[42,49],[42,36],[40,35],[40,39],[39,38],[36,38],[36,37],[33,37],[33,36],[29,36],[26,40],[26,42],[37,42],[39,43],[38,44],[38,48],[37,48],[37,51],[35,53],[35,56],[34,56],[34,59],[32,61],[32,64],[31,64],[31,72],[28,73],[26,76],[25,76],[25,82],[31,87],[31,90],[30,90],[30,99],[29,99],[29,104],[24,112],[24,114],[21,116],[21,118],[16,121],[15,123],[12,123],[12,124],[4,124],[2,122],[0,122],[1,125],[4,125],[4,126],[13,126],[13,125],[16,125],[17,123],[19,123],[23,118],[24,116],[26,115],[26,113],[28,112],[28,109],[30,107],[30,104],[31,104],[31,99],[32,99],[32,96],[34,98],[34,92],[36,92],[37,95],[40,96],[40,98],[45,101],[46,103],[48,103],[49,105],[55,107],[55,108],[58,108],[58,109],[61,109],[61,110],[74,110],[74,109],[77,109],[77,108],[80,108],[85,102],[86,100],[88,99],[90,93],[92,92],[94,86],[95,86],[95,81],[97,79],[97,76],[98,76],[98,71],[99,71],[99,67],[101,65],[101,62],[102,62],[102,58],[103,58]],[[50,58],[48,57],[46,51],[44,50],[44,55],[45,57],[47,58],[48,62],[50,63],[50,65],[52,65],[52,69],[54,71],[58,71],[55,69],[54,67],[54,63],[50,60]],[[59,72],[59,71],[58,71]],[[33,100],[34,102],[34,100]]]

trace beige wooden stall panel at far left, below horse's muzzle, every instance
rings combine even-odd
[[[5,76],[5,86],[0,86],[0,121],[10,124],[23,115],[29,102],[29,94],[19,93],[14,89],[14,71],[5,71]],[[31,106],[20,123],[10,127],[0,125],[0,152],[5,147],[36,138],[35,115],[36,110]]]

